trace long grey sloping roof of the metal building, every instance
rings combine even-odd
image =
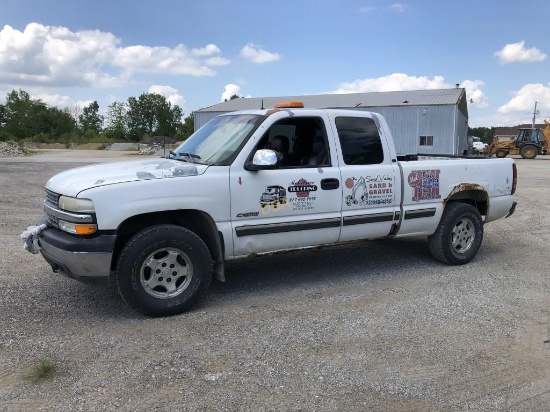
[[[237,110],[270,109],[278,102],[289,100],[302,101],[305,107],[316,109],[458,105],[460,111],[466,118],[468,117],[466,92],[463,88],[458,87],[452,89],[407,90],[398,92],[246,97],[219,103],[197,110],[197,112],[227,113]]]

